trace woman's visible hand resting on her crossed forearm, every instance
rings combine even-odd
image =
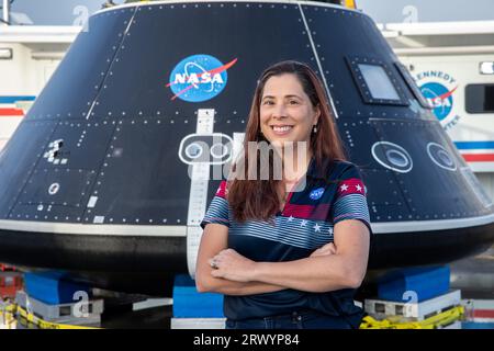
[[[214,278],[223,278],[235,282],[252,281],[256,262],[249,260],[235,251],[226,249],[210,259],[210,264],[214,269],[211,274]]]

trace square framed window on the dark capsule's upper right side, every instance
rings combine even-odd
[[[361,57],[347,57],[347,63],[366,103],[408,105],[395,75],[386,64]]]

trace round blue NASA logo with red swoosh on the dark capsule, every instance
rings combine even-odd
[[[193,55],[182,59],[171,71],[169,87],[177,98],[188,102],[203,102],[218,95],[226,87],[227,70],[236,64],[224,65],[211,55]]]

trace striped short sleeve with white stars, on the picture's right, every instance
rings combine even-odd
[[[372,233],[366,193],[358,168],[350,163],[339,177],[332,208],[333,224],[345,219],[359,219],[369,228],[369,233]]]

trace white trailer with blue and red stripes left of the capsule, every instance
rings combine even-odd
[[[0,25],[0,150],[80,30]]]

